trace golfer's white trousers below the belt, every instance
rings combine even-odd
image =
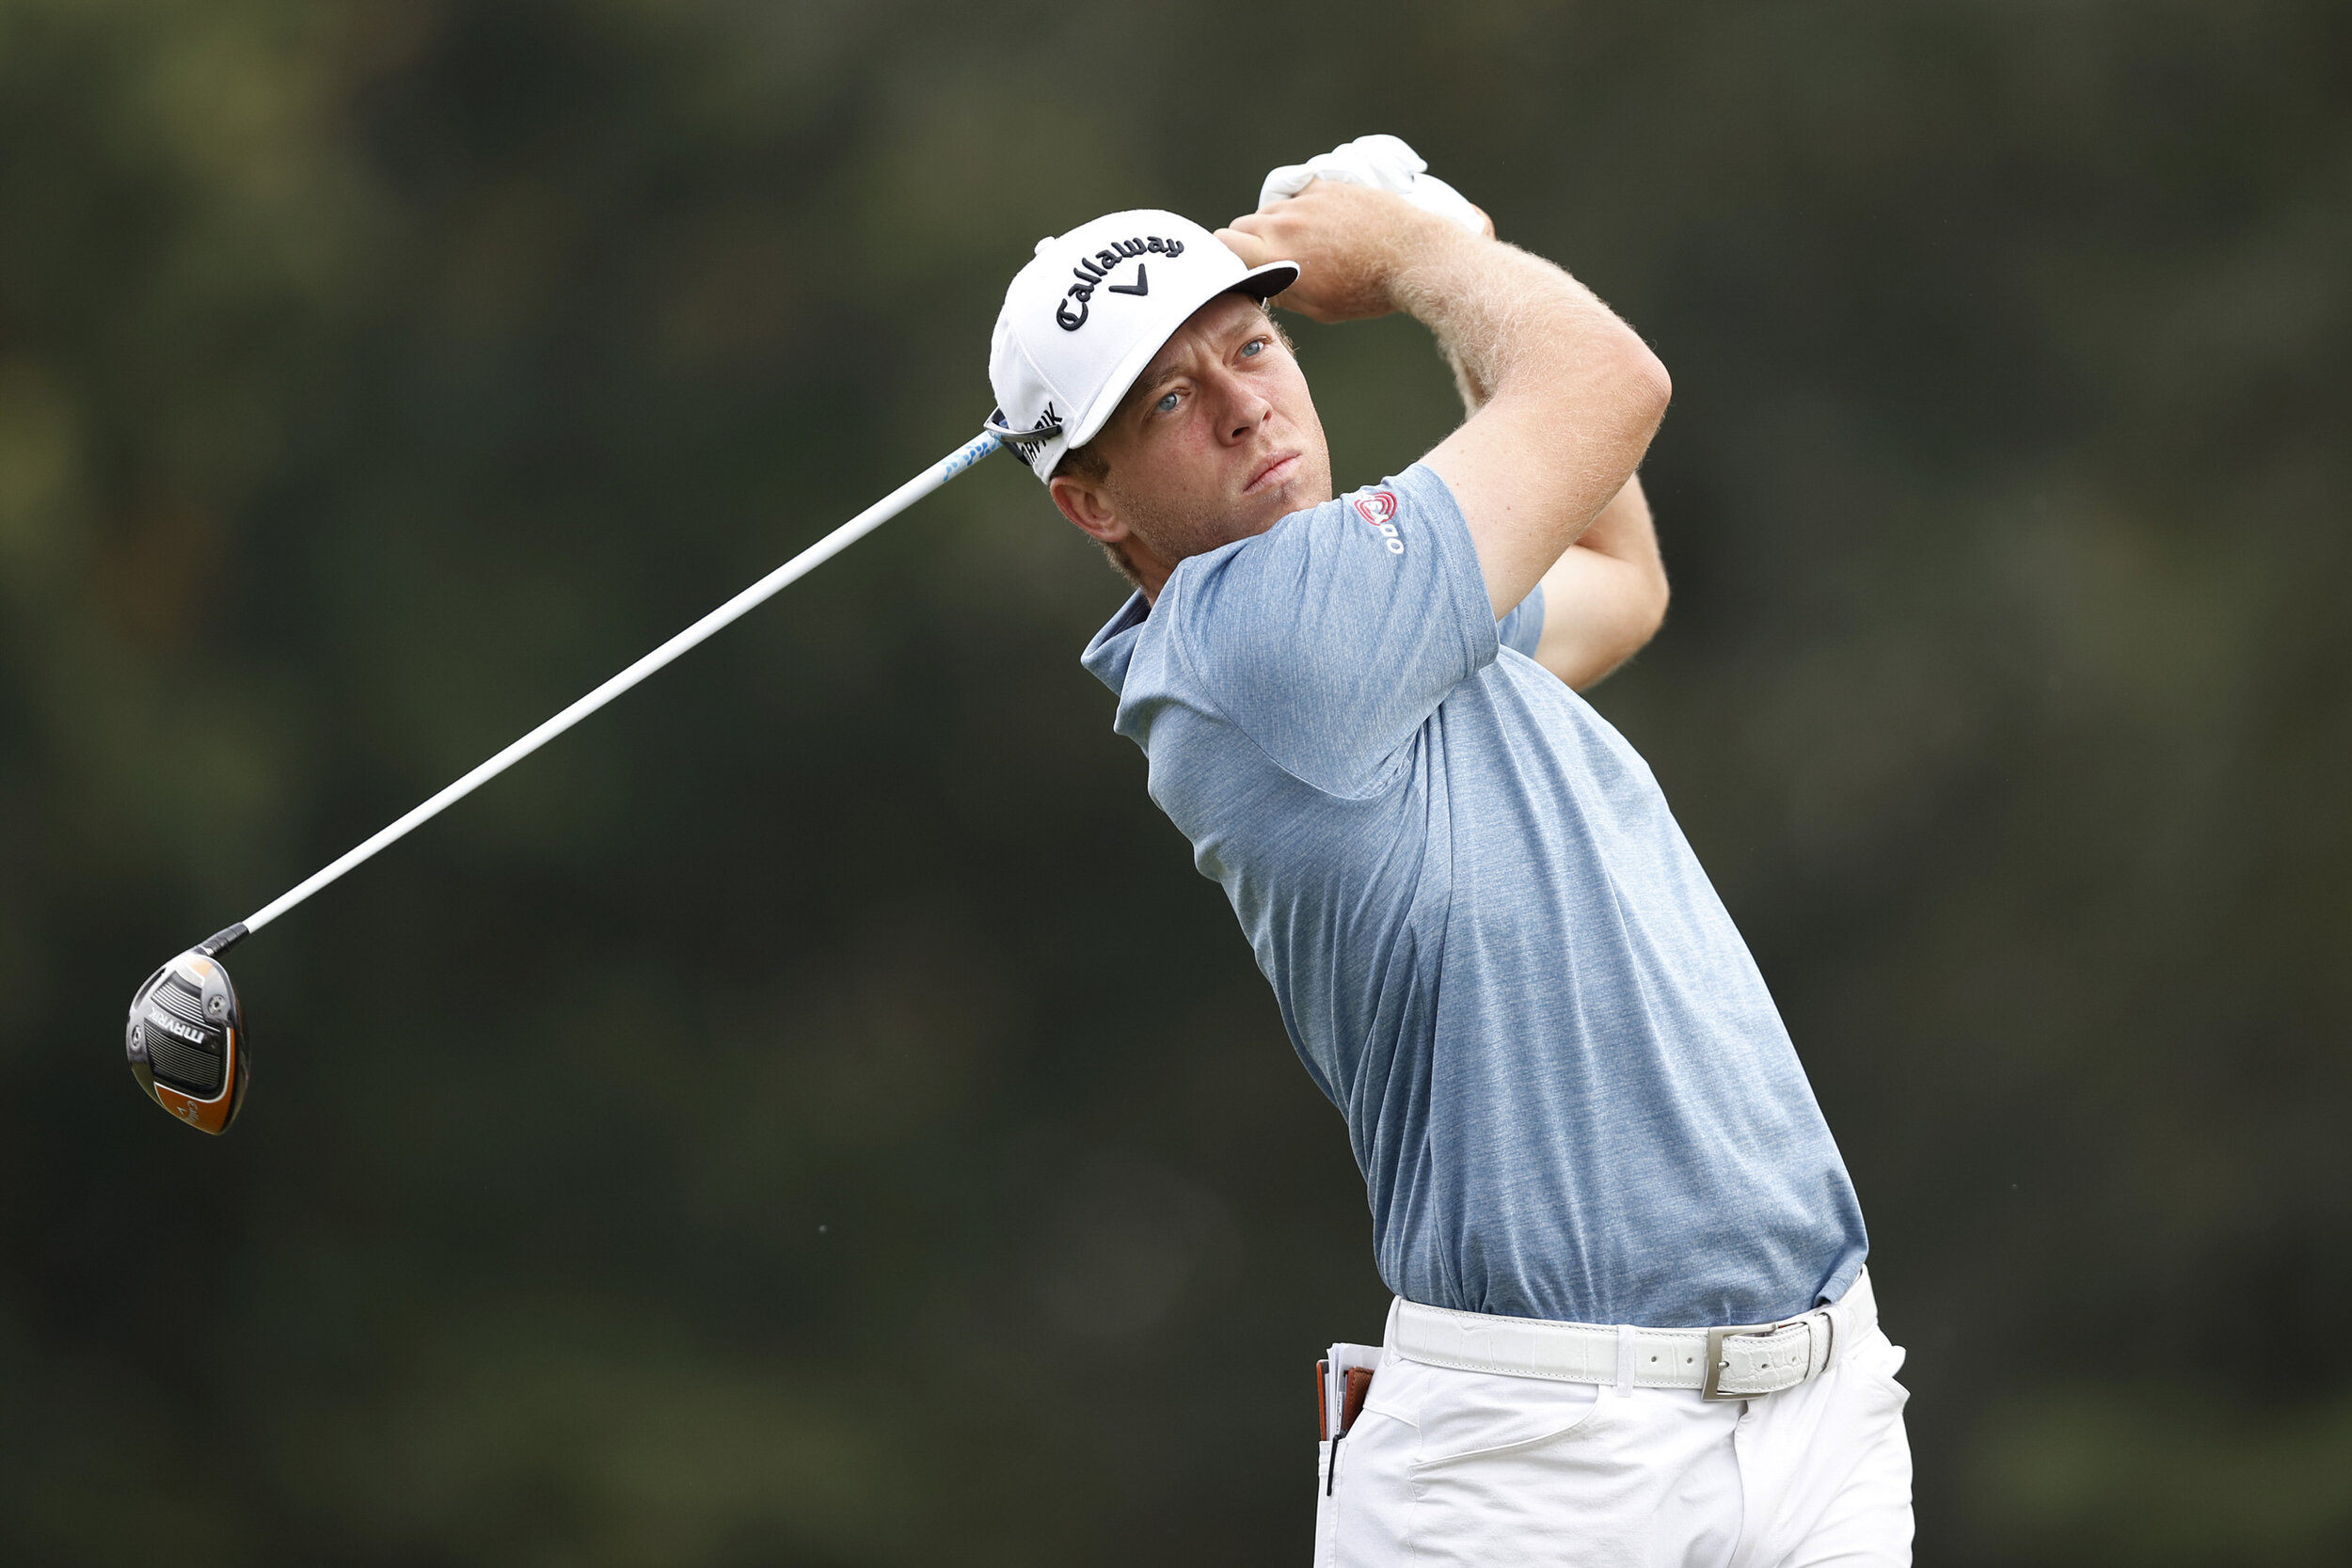
[[[1315,1568],[1910,1563],[1910,1394],[1877,1328],[1811,1382],[1708,1403],[1421,1366],[1395,1321],[1338,1474],[1319,1446]]]

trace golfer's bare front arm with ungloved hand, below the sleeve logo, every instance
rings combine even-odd
[[[1399,195],[1315,181],[1218,240],[1251,266],[1296,261],[1282,303],[1317,322],[1409,310],[1437,334],[1475,414],[1425,461],[1496,616],[1625,489],[1665,416],[1665,367],[1590,289]]]

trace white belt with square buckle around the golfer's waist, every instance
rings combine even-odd
[[[1731,1328],[1630,1328],[1489,1316],[1397,1300],[1390,1345],[1406,1361],[1465,1373],[1508,1373],[1557,1382],[1613,1382],[1621,1389],[1698,1389],[1703,1399],[1757,1399],[1792,1389],[1837,1366],[1877,1328],[1870,1272],[1837,1302]]]

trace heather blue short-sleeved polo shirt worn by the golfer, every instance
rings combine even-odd
[[[1084,663],[1348,1117],[1392,1291],[1661,1328],[1835,1300],[1863,1215],[1764,978],[1541,630],[1496,625],[1416,465],[1183,562]]]

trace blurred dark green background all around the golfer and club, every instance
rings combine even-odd
[[[1037,235],[1404,134],[1661,350],[1597,691],[1912,1349],[1919,1561],[2352,1559],[2352,7],[0,0],[0,1559],[1303,1563],[1338,1114],[1011,463]],[[1454,421],[1298,324],[1343,484]]]

